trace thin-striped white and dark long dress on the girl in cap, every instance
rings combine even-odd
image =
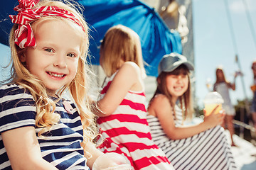
[[[181,108],[175,106],[176,127],[181,127]],[[197,135],[171,140],[165,134],[158,118],[147,115],[151,136],[176,170],[235,170],[237,169],[224,129],[218,125]]]

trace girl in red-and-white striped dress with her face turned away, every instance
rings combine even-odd
[[[100,64],[107,75],[97,101],[97,123],[103,152],[127,157],[134,169],[173,169],[151,140],[146,121],[144,71],[139,35],[125,26],[113,26],[100,47]]]

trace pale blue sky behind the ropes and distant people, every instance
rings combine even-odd
[[[252,30],[250,30],[247,13],[250,15],[253,32],[256,34],[256,0],[191,1],[193,6],[194,74],[198,105],[203,106],[203,98],[208,93],[206,81],[210,80],[211,84],[215,82],[216,67],[221,65],[226,79],[233,82],[233,74],[239,69],[238,63],[235,62],[236,53],[243,77],[236,79],[236,90],[230,90],[230,97],[233,104],[244,98],[251,99],[251,64],[253,60],[256,60],[256,42]],[[225,1],[228,2],[234,37],[230,30]],[[243,1],[247,4],[247,8]],[[233,45],[233,38],[236,48]],[[0,52],[0,65],[4,66],[9,61],[9,47],[0,44]],[[6,75],[6,72],[1,71],[0,79],[3,79],[3,75]],[[243,84],[245,88],[243,88]]]

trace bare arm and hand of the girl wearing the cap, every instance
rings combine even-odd
[[[203,123],[189,127],[176,127],[171,104],[169,103],[168,98],[162,94],[156,96],[154,100],[151,101],[148,111],[149,114],[155,115],[159,119],[161,127],[171,140],[181,140],[197,135],[216,125],[220,125],[224,118],[223,114],[211,113],[204,119]]]

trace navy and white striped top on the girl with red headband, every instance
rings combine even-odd
[[[89,169],[86,166],[82,142],[82,123],[74,103],[71,113],[58,101],[55,113],[60,121],[50,132],[38,137],[41,155],[58,169]],[[11,169],[9,158],[2,141],[1,133],[16,128],[35,127],[36,106],[33,96],[15,84],[0,87],[0,169]],[[41,128],[36,128],[36,135]]]

